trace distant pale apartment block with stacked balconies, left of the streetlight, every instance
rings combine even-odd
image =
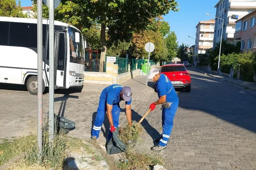
[[[213,47],[215,20],[200,21],[196,25],[195,54],[204,54]]]

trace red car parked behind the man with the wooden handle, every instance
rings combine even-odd
[[[162,65],[160,73],[167,75],[174,88],[185,88],[187,92],[191,91],[190,74],[183,64]]]

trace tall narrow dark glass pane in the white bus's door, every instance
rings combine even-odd
[[[64,60],[65,60],[65,34],[60,33],[59,37],[59,50],[58,50],[58,64],[57,69],[64,71]]]

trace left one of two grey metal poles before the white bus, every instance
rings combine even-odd
[[[43,136],[43,16],[42,16],[43,2],[37,1],[37,141],[38,141],[38,157],[41,161],[42,156],[42,136]]]

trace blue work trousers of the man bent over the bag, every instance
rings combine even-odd
[[[99,133],[100,133],[101,126],[103,124],[106,112],[107,112],[107,103],[105,101],[104,102],[100,101],[99,107],[97,109],[96,119],[95,119],[94,126],[93,126],[93,131],[92,131],[92,136],[96,136],[96,138],[99,138]],[[119,115],[120,115],[119,103],[113,104],[112,117],[113,117],[113,123],[114,123],[115,128],[118,127],[118,125],[119,125]],[[111,138],[112,138],[112,132],[110,132],[110,128],[109,128],[108,141]]]

